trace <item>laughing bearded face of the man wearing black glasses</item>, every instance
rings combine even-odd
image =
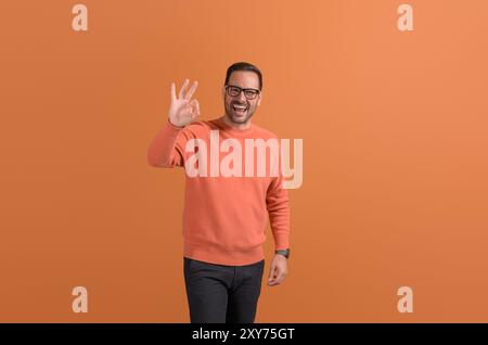
[[[251,71],[235,71],[231,74],[228,81],[229,86],[242,89],[259,90],[259,77]],[[256,108],[261,103],[261,92],[253,100],[245,97],[244,91],[237,95],[230,95],[226,87],[222,88],[223,104],[226,106],[226,116],[236,125],[246,124],[253,116]]]

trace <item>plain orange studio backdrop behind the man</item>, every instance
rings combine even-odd
[[[403,1],[81,2],[86,33],[75,1],[0,4],[0,321],[189,320],[184,173],[146,150],[171,81],[211,119],[236,61],[264,73],[255,123],[304,139],[256,321],[488,321],[487,1],[409,1],[406,33]]]

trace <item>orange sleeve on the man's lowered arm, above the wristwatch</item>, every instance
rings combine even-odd
[[[266,204],[275,250],[286,250],[290,247],[290,205],[287,190],[283,188],[283,176],[271,180]]]

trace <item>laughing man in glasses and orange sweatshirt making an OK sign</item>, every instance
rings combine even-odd
[[[152,141],[147,159],[155,167],[180,166],[188,173],[197,152],[202,158],[197,165],[204,174],[187,174],[183,209],[183,271],[191,322],[251,323],[261,289],[268,215],[275,244],[268,285],[281,284],[287,274],[287,192],[282,174],[222,176],[206,146],[216,140],[241,143],[242,148],[249,139],[277,140],[251,122],[262,100],[262,76],[249,63],[231,65],[222,87],[224,115],[208,122],[195,120],[200,105],[192,95],[197,82],[189,90],[188,86],[185,79],[177,97],[171,84],[169,117]],[[194,150],[189,152],[189,148]],[[214,162],[209,167],[213,174],[203,169],[206,162]]]

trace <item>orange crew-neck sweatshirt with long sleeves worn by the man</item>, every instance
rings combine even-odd
[[[219,143],[231,138],[241,143],[242,177],[224,177],[217,171],[220,165],[216,167],[214,164],[214,167],[210,167],[210,141],[216,142],[216,132],[210,135],[211,130],[218,130]],[[211,136],[214,138],[210,140]],[[166,168],[178,166],[184,169],[185,162],[191,156],[193,156],[191,162],[195,161],[195,152],[185,150],[190,139],[201,139],[206,143],[207,175],[190,177],[185,174],[183,256],[220,265],[240,266],[257,263],[265,257],[262,243],[266,240],[268,215],[275,250],[288,247],[288,195],[282,186],[281,169],[278,176],[272,176],[267,159],[266,176],[259,177],[256,173],[258,155],[255,150],[255,173],[252,177],[245,174],[245,139],[258,138],[265,141],[270,138],[278,140],[273,133],[254,124],[247,129],[236,129],[220,117],[208,122],[193,122],[184,128],[174,126],[168,119],[153,139],[147,150],[149,164]],[[218,150],[219,164],[226,159],[229,152],[233,151],[233,149],[228,149],[228,152]],[[216,151],[213,152],[215,158]],[[204,153],[205,150],[201,152],[202,155]],[[210,169],[214,169],[214,174]]]

